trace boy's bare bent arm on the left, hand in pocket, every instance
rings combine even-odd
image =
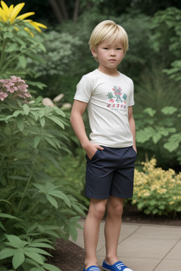
[[[91,159],[95,152],[100,149],[103,150],[103,147],[100,147],[98,144],[92,144],[86,135],[85,126],[83,123],[83,113],[85,112],[87,107],[86,102],[81,102],[78,100],[74,100],[74,104],[71,109],[71,126],[74,129],[74,132],[80,141],[82,147],[84,150],[86,150],[86,153],[88,155],[88,158]]]

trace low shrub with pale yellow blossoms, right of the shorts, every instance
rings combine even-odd
[[[147,215],[173,215],[181,212],[181,172],[156,168],[156,159],[135,169],[132,204]]]

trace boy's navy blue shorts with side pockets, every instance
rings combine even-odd
[[[104,150],[97,150],[91,160],[87,155],[86,159],[87,197],[132,198],[136,160],[133,147],[104,147]]]

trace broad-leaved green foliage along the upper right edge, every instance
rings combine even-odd
[[[158,11],[153,17],[153,38],[158,44],[162,59],[167,61],[164,72],[170,78],[181,80],[180,42],[181,42],[181,11],[175,7]]]

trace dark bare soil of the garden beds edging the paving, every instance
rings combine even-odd
[[[136,207],[128,205],[124,207],[122,222],[180,227],[181,213],[180,217],[175,219],[172,217],[151,217],[150,215],[144,215]],[[64,239],[57,240],[55,248],[56,250],[52,251],[53,258],[50,261],[52,265],[59,267],[62,271],[82,271],[84,264],[83,248],[69,240],[64,241]]]

